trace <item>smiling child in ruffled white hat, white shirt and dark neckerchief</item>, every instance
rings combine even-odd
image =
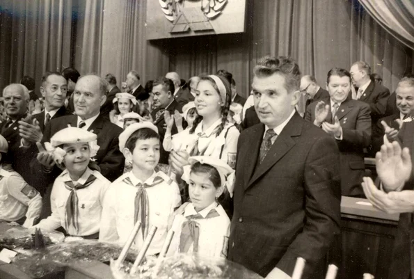
[[[45,143],[56,164],[65,170],[56,177],[51,190],[51,216],[35,228],[63,227],[72,236],[98,238],[104,193],[111,182],[97,170],[88,168],[90,158],[99,149],[96,138],[90,131],[68,127]]]

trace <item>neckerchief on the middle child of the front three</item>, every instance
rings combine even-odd
[[[134,224],[136,224],[137,221],[141,221],[141,231],[143,234],[143,239],[145,239],[148,235],[148,223],[150,221],[150,205],[148,202],[148,193],[145,189],[156,186],[163,181],[164,179],[160,176],[155,177],[152,181],[152,184],[143,184],[140,182],[134,185],[129,177],[123,180],[123,182],[138,188],[138,191],[136,191],[134,202]]]

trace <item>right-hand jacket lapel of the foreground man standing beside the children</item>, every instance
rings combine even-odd
[[[292,119],[287,122],[285,128],[282,129],[278,138],[276,138],[275,143],[273,143],[271,149],[266,154],[266,157],[264,157],[262,164],[256,166],[255,173],[248,182],[247,188],[252,186],[257,179],[264,175],[267,170],[282,159],[282,157],[294,147],[296,141],[294,141],[293,137],[301,135],[302,125],[303,119],[298,113],[295,113]],[[263,134],[260,134],[260,136],[263,136]]]

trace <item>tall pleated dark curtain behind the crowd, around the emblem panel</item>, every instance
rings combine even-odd
[[[390,90],[413,72],[413,50],[358,0],[248,0],[245,33],[154,41],[145,39],[145,0],[9,2],[0,2],[0,89],[23,74],[39,82],[45,70],[68,65],[81,74],[111,72],[118,83],[137,70],[143,84],[168,71],[188,79],[225,69],[247,96],[253,67],[268,54],[296,58],[321,86],[332,67],[349,69],[358,60],[372,65]]]

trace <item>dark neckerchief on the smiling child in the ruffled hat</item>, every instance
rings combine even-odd
[[[65,182],[66,189],[70,191],[70,194],[69,194],[69,197],[67,197],[66,206],[65,206],[66,228],[70,228],[70,226],[72,226],[76,231],[78,231],[79,199],[77,196],[77,190],[90,186],[90,184],[92,184],[95,180],[96,180],[95,175],[89,175],[88,180],[86,180],[85,184],[75,185],[72,181]]]

